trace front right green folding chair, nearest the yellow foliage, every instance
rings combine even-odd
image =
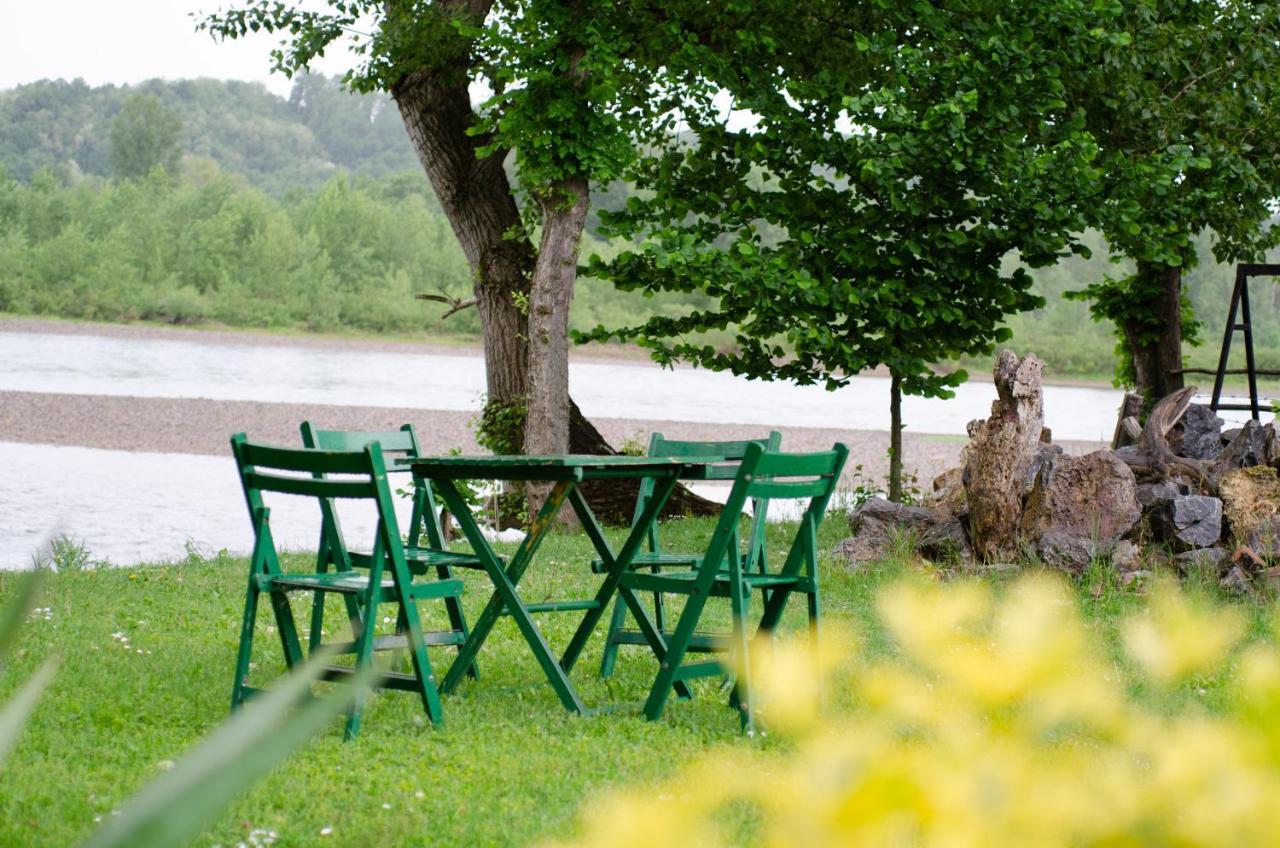
[[[667,698],[676,683],[719,675],[722,662],[710,660],[685,662],[690,653],[694,633],[710,597],[728,598],[733,625],[730,649],[735,655],[737,676],[730,696],[737,707],[742,728],[755,731],[755,705],[751,697],[751,664],[749,646],[753,638],[749,621],[751,594],[755,589],[768,589],[756,633],[772,634],[782,617],[787,601],[796,593],[805,596],[809,606],[809,630],[818,638],[818,526],[840,473],[844,470],[849,448],[836,444],[819,453],[773,453],[759,444],[750,444],[737,469],[733,488],[712,534],[710,544],[695,567],[671,573],[628,570],[621,585],[632,591],[663,592],[687,596],[675,632],[667,639],[666,651],[659,657],[660,667],[654,680],[644,713],[650,720],[662,715]],[[796,535],[787,559],[777,570],[753,571],[746,559],[733,547],[737,521],[748,498],[767,501],[805,500],[809,505],[796,526]]]

